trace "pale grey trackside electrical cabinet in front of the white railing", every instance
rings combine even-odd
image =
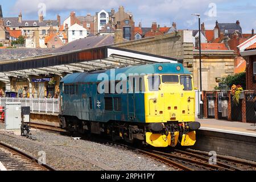
[[[21,103],[5,103],[5,129],[20,130],[21,126]]]

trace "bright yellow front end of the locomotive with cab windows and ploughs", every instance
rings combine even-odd
[[[159,79],[158,88],[151,88],[151,80]],[[171,82],[172,81],[172,82]],[[193,146],[196,142],[197,126],[189,127],[195,122],[195,91],[190,75],[148,76],[145,97],[146,123],[164,125],[163,131],[146,133],[146,142],[154,147]],[[199,126],[200,127],[200,126]],[[168,135],[167,135],[168,134]]]

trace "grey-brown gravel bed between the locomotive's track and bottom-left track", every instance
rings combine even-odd
[[[0,123],[1,128],[3,123]],[[31,133],[36,140],[0,131],[0,141],[18,147],[35,158],[39,157],[39,151],[45,151],[47,164],[59,170],[175,170],[148,156],[123,147],[88,140],[73,140],[68,136],[42,130],[32,130]]]

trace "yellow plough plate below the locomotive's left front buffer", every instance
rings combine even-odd
[[[146,142],[154,147],[168,147],[166,135],[146,133]]]

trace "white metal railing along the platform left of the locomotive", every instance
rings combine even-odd
[[[5,107],[5,102],[21,102],[22,106],[30,106],[31,113],[53,113],[60,112],[59,98],[0,98],[0,106]]]

